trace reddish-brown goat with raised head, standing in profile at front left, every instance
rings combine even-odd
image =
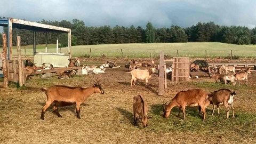
[[[97,80],[94,82],[95,84],[93,86],[87,88],[64,85],[54,85],[49,89],[43,87],[42,90],[45,91],[47,101],[42,109],[41,119],[44,120],[45,111],[50,105],[53,106],[53,110],[57,116],[62,117],[58,111],[58,107],[70,106],[74,103],[76,103],[76,117],[80,119],[80,105],[93,93],[105,93],[99,82]]]

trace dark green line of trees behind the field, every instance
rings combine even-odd
[[[38,21],[46,25],[70,28],[72,33],[72,45],[95,44],[122,44],[122,43],[186,43],[186,42],[221,42],[229,44],[256,44],[256,27],[249,29],[245,26],[220,26],[210,21],[198,22],[186,28],[170,26],[154,28],[151,22],[146,24],[146,29],[141,26],[130,27],[110,26],[88,27],[81,20],[72,22],[62,21]],[[7,33],[7,28],[3,28]],[[1,35],[0,35],[1,36]],[[33,44],[33,31],[13,28],[13,45],[17,44],[17,36],[21,36],[22,45]],[[1,36],[2,37],[2,36]],[[2,45],[2,38],[0,38]],[[57,34],[48,33],[47,43],[56,43]],[[36,43],[45,44],[46,33],[36,33]],[[68,45],[68,35],[59,34],[61,46]]]

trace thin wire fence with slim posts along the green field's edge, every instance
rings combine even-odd
[[[0,49],[1,51],[1,49]],[[101,50],[85,47],[73,47],[71,54],[73,57],[86,58],[159,58],[159,52],[162,49],[111,49]],[[37,49],[36,52],[45,52],[45,49]],[[47,49],[48,53],[56,53],[57,49]],[[58,53],[69,53],[67,47],[61,47]],[[255,51],[242,50],[164,50],[166,58],[189,57],[189,58],[229,58],[229,59],[256,59]],[[17,50],[13,47],[13,55],[17,55]],[[21,55],[33,56],[33,47],[21,47]]]

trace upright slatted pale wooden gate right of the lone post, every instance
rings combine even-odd
[[[172,81],[181,82],[189,80],[188,57],[174,57],[172,60]]]

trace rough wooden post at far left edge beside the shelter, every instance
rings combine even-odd
[[[4,88],[8,87],[9,84],[9,73],[8,73],[8,61],[6,59],[7,55],[7,42],[6,42],[6,34],[3,34],[3,52],[1,52],[1,59],[3,65],[3,74],[4,74]]]

